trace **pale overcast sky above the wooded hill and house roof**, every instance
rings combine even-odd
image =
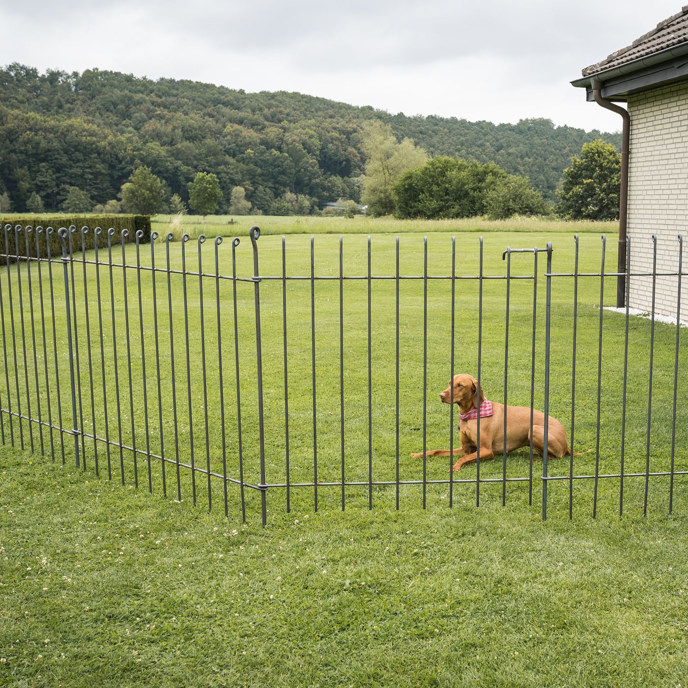
[[[616,131],[619,116],[570,80],[678,11],[667,0],[0,0],[0,64]]]

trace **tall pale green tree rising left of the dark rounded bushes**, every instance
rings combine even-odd
[[[372,215],[394,213],[392,188],[401,175],[427,161],[427,153],[409,138],[398,143],[389,125],[365,122],[362,148],[367,158],[361,201]]]

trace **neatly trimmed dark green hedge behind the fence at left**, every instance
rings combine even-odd
[[[45,230],[48,227],[53,228],[50,234],[50,253],[53,257],[62,257],[62,242],[58,237],[57,230],[61,227],[69,228],[70,225],[76,226],[76,232],[72,234],[72,250],[74,252],[81,250],[81,228],[88,227],[89,231],[85,233],[85,248],[94,248],[94,241],[96,234],[94,229],[96,227],[103,228],[103,233],[98,237],[98,248],[107,246],[107,230],[113,228],[115,235],[112,237],[112,244],[121,245],[122,237],[121,231],[123,229],[129,230],[129,235],[125,237],[125,243],[131,244],[136,241],[136,232],[141,230],[143,237],[140,241],[142,244],[147,244],[151,241],[151,217],[149,215],[62,215],[58,217],[51,217],[50,215],[3,215],[0,218],[0,253],[7,255],[26,255],[26,237],[25,233],[19,234],[19,253],[17,253],[14,246],[14,227],[17,225],[22,227],[31,226],[34,229],[29,236],[29,255],[36,256],[36,227],[43,227],[43,234],[41,235],[41,257],[47,256],[47,249],[45,246]],[[5,250],[5,227],[11,225],[8,230],[8,247]],[[67,247],[69,244],[67,244]],[[5,259],[0,259],[0,263],[4,264]]]

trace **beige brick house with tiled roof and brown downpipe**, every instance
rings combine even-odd
[[[619,261],[623,237],[631,239],[631,272],[652,272],[652,235],[657,271],[676,272],[678,241],[685,237],[688,268],[688,6],[610,56],[583,69],[571,82],[587,100],[623,118]],[[615,105],[626,103],[627,110]],[[612,237],[610,237],[611,239]],[[608,250],[614,244],[608,242]],[[624,305],[623,278],[616,305]],[[677,277],[658,277],[655,312],[676,317]],[[632,277],[630,307],[652,308],[652,278]],[[682,321],[688,321],[688,277],[682,279]]]

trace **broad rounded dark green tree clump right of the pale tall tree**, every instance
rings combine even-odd
[[[401,175],[393,187],[397,217],[475,217],[485,212],[488,189],[506,177],[493,162],[438,156]]]

